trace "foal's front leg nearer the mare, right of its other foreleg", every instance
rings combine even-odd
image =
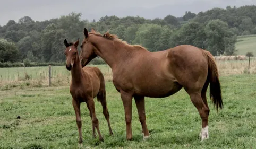
[[[92,113],[92,127],[96,127],[97,129],[97,132],[99,134],[99,140],[100,141],[104,141],[103,137],[101,136],[100,134],[100,130],[99,130],[99,120],[97,119],[96,117],[96,113],[95,113],[95,105],[94,105],[94,101],[93,101],[93,98],[88,98],[88,105],[89,105],[89,108],[91,110],[91,113]]]

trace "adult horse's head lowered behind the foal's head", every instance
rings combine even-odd
[[[92,29],[91,32],[95,32],[95,30]],[[86,28],[84,28],[84,39],[81,44],[81,54],[80,54],[80,60],[82,67],[86,66],[93,58],[97,57],[96,54],[96,47],[92,45],[92,43],[89,41],[89,33]]]

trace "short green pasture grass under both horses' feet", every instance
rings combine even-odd
[[[198,138],[201,118],[183,89],[168,98],[146,98],[150,130],[147,141],[142,140],[133,101],[133,140],[126,141],[122,100],[113,83],[107,82],[107,105],[114,136],[108,135],[107,122],[100,103],[96,102],[105,140],[92,138],[89,111],[83,103],[83,148],[256,148],[255,80],[255,75],[220,77],[224,109],[217,114],[208,95],[210,139],[204,142]],[[21,119],[16,119],[18,115]],[[0,148],[78,148],[69,87],[0,91]]]

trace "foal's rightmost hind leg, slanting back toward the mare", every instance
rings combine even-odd
[[[110,126],[110,121],[109,121],[109,112],[107,109],[106,91],[105,90],[100,91],[99,94],[97,95],[97,98],[102,105],[103,115],[105,116],[107,123],[108,123],[109,134],[113,135],[112,128]]]

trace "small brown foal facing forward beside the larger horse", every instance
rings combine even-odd
[[[66,46],[66,69],[71,71],[72,80],[70,83],[70,93],[72,95],[72,104],[75,110],[76,125],[78,126],[79,132],[79,143],[83,142],[82,139],[82,122],[81,122],[81,112],[80,104],[81,102],[86,102],[87,107],[90,111],[90,117],[92,120],[92,136],[96,137],[95,127],[99,134],[100,141],[103,141],[103,137],[99,130],[99,121],[96,117],[95,106],[93,98],[97,97],[98,101],[103,107],[103,114],[107,120],[109,133],[113,134],[110,122],[109,113],[107,109],[106,101],[106,90],[104,76],[100,69],[97,67],[84,67],[82,68],[79,55],[78,55],[78,44],[79,39],[75,43],[68,43],[64,40]]]

